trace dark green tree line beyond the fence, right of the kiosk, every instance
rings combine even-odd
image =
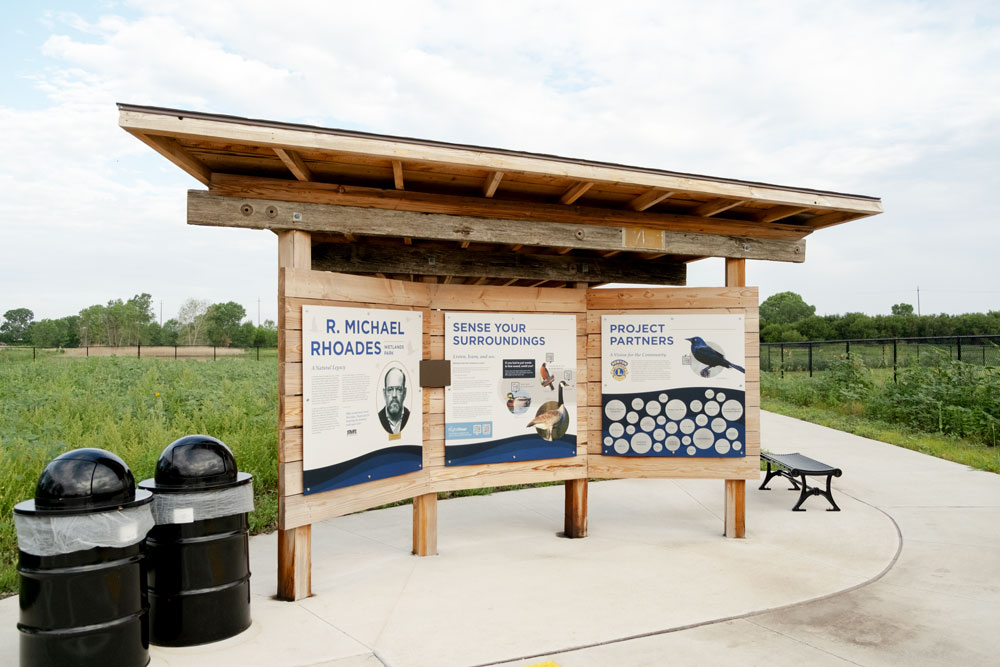
[[[1000,334],[1000,311],[917,315],[911,304],[897,303],[889,315],[817,315],[816,307],[795,292],[780,292],[760,304],[760,339],[764,343],[989,334]]]

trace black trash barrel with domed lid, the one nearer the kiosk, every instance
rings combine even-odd
[[[153,492],[156,519],[146,538],[153,644],[206,644],[250,627],[251,479],[221,441],[189,435],[140,482]]]

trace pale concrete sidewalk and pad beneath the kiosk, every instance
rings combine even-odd
[[[313,527],[312,598],[271,598],[276,538],[255,537],[251,628],[151,664],[995,664],[1000,476],[769,413],[762,430],[843,468],[842,512],[749,483],[729,540],[720,481],[620,480],[591,484],[589,537],[567,540],[545,487],[440,503],[429,558],[408,506],[342,517]],[[0,663],[16,622],[0,602]]]

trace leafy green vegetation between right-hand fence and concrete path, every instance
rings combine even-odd
[[[892,374],[857,357],[814,378],[761,374],[766,410],[1000,472],[1000,369],[938,355]]]

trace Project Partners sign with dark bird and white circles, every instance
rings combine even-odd
[[[741,457],[743,315],[601,317],[601,453]]]

